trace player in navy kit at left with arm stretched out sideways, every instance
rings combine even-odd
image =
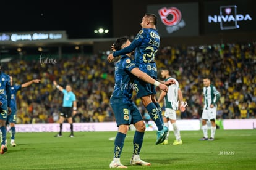
[[[7,116],[7,121],[6,124],[9,124],[10,126],[10,133],[11,133],[11,146],[15,147],[15,123],[16,123],[16,114],[17,114],[17,104],[16,104],[16,95],[17,92],[20,91],[24,87],[30,86],[32,83],[40,83],[40,79],[33,79],[31,81],[28,81],[23,84],[13,84],[12,81],[12,76],[10,76],[10,82],[11,82],[11,110],[12,113]],[[7,145],[7,140],[6,140],[6,145]]]

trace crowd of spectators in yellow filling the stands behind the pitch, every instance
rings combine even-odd
[[[249,42],[161,48],[156,59],[158,70],[171,69],[187,103],[186,111],[178,112],[178,118],[200,119],[204,75],[210,75],[211,83],[221,94],[218,118],[256,118],[255,47],[255,42]],[[14,83],[41,79],[40,84],[32,84],[18,92],[17,124],[58,122],[62,93],[53,86],[54,79],[62,87],[70,84],[77,96],[78,111],[74,122],[114,121],[109,107],[114,88],[114,65],[106,61],[107,54],[55,58],[52,59],[54,63],[40,62],[43,55],[7,63],[6,73],[13,76]],[[51,60],[51,56],[47,57]],[[144,115],[145,108],[135,94],[134,102]]]

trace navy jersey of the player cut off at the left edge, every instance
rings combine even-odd
[[[7,107],[11,106],[11,83],[10,76],[0,72],[0,101]]]

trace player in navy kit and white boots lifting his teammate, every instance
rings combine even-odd
[[[130,41],[126,36],[116,40],[114,49],[119,50],[129,46]],[[132,92],[136,91],[137,86],[134,84],[135,79],[142,79],[150,84],[155,84],[161,90],[168,92],[168,87],[155,79],[151,78],[135,65],[134,60],[130,59],[131,53],[121,55],[121,58],[115,65],[115,85],[114,91],[110,98],[110,104],[116,118],[118,132],[114,141],[114,158],[109,164],[110,168],[127,168],[121,164],[120,156],[122,148],[124,147],[124,140],[126,138],[129,125],[134,124],[134,152],[130,160],[132,165],[150,166],[151,164],[140,159],[140,150],[142,148],[143,137],[145,133],[145,123],[143,121],[140,111],[132,102]]]

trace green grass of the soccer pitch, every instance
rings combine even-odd
[[[210,131],[209,131],[210,133]],[[109,169],[116,132],[17,133],[17,147],[0,155],[3,169]],[[202,131],[181,131],[183,145],[155,145],[156,132],[145,132],[142,160],[151,166],[130,166],[134,131],[129,131],[121,155],[129,169],[256,169],[256,130],[217,130],[215,141],[198,141]],[[9,134],[7,135],[9,144]],[[170,132],[169,143],[174,135]],[[219,155],[234,152],[233,155]]]

